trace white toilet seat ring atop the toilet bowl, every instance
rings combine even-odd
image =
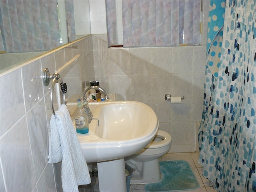
[[[168,134],[167,132],[162,131],[162,130],[158,130],[156,132],[156,136],[155,137],[161,138],[162,141],[151,142],[144,149],[160,148],[160,147],[166,146],[166,145],[168,145],[168,144],[170,144],[172,142],[172,136],[170,136],[170,134]]]

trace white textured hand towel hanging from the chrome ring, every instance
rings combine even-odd
[[[61,179],[64,192],[78,192],[78,185],[89,184],[90,174],[82,148],[66,105],[52,114],[50,120],[48,163],[62,160]]]

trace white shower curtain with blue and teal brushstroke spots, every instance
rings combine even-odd
[[[210,45],[220,45],[221,53],[208,50],[219,63],[208,57],[198,163],[219,192],[252,192],[256,191],[256,0],[226,0],[224,18],[223,36],[218,31],[222,42],[212,39]]]

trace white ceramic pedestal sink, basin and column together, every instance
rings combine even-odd
[[[76,103],[67,103],[70,113]],[[77,134],[86,162],[97,162],[100,192],[126,192],[124,157],[147,146],[158,130],[154,111],[141,102],[90,102],[88,134]]]

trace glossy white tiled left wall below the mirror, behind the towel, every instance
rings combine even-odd
[[[73,61],[75,56],[79,57]],[[92,36],[1,74],[1,192],[62,191],[61,165],[48,164],[47,158],[52,81],[49,86],[43,85],[42,69],[48,68],[53,74],[66,63],[70,65],[60,72],[60,76],[68,86],[67,97],[81,94],[81,82],[94,80]]]

